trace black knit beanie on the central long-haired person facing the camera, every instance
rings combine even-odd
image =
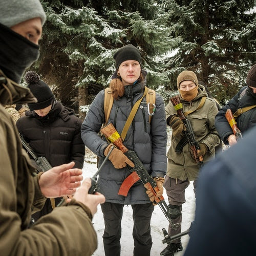
[[[133,45],[126,45],[121,47],[114,54],[114,59],[116,61],[116,70],[118,70],[120,64],[125,60],[137,60],[141,67],[141,53],[139,49]]]

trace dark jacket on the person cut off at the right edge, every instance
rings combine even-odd
[[[215,127],[221,139],[228,145],[228,137],[233,134],[232,129],[225,117],[227,109],[231,109],[235,113],[238,109],[246,106],[256,105],[256,95],[251,89],[246,86],[243,87],[222,109],[215,117]],[[256,108],[246,111],[238,116],[237,125],[239,130],[243,133],[256,125]]]

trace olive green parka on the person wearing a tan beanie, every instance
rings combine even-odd
[[[204,96],[207,97],[207,93],[204,87],[200,85],[198,94],[192,101],[187,102],[180,96],[183,105],[183,113],[196,110]],[[169,101],[165,107],[166,119],[170,115],[176,113],[172,102]],[[215,156],[215,146],[220,143],[220,138],[214,125],[217,113],[218,109],[214,99],[207,97],[202,108],[186,116],[186,118],[190,120],[196,140],[199,143],[205,143],[208,147],[208,151],[203,157],[204,162]],[[196,180],[199,173],[199,166],[191,157],[189,143],[185,144],[181,154],[175,152],[175,149],[183,136],[185,136],[184,132],[179,136],[172,135],[171,145],[167,152],[168,165],[166,175],[170,178],[178,178],[179,180]]]

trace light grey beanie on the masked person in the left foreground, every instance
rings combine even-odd
[[[28,19],[39,17],[45,24],[46,14],[39,0],[1,0],[0,23],[10,28]]]

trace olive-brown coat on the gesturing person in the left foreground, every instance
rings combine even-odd
[[[0,70],[0,254],[92,255],[97,248],[92,214],[74,199],[28,228],[31,212],[39,210],[46,198],[38,185],[40,175],[34,175],[4,105],[34,99],[28,89],[7,79]]]

